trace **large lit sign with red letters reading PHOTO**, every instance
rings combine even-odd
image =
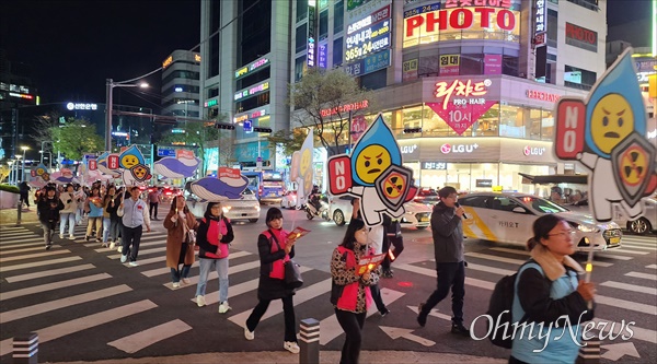
[[[473,7],[439,9],[439,4],[406,11],[403,48],[441,40],[460,39],[461,31],[468,39],[496,38],[519,42],[520,12],[504,8]]]

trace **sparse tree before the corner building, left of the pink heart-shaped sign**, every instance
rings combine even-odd
[[[342,70],[310,69],[301,81],[290,85],[289,104],[301,111],[292,119],[303,127],[314,127],[328,155],[339,152],[341,140],[349,133],[349,110],[344,105],[366,101],[369,106],[351,111],[351,117],[372,107],[372,93],[361,89]],[[322,113],[330,109],[331,113]]]

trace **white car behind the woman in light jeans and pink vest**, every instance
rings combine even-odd
[[[185,190],[185,196],[189,211],[192,211],[196,218],[203,218],[208,202],[201,202],[200,199],[189,190]],[[239,199],[221,201],[221,209],[223,210],[223,215],[231,221],[249,220],[252,223],[256,223],[260,219],[260,202],[253,191],[249,188],[244,189],[242,197]]]

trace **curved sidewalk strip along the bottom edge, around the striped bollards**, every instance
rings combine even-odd
[[[320,363],[338,363],[339,352],[321,351]],[[69,362],[68,364],[82,364],[89,362]],[[267,363],[267,364],[298,364],[299,355],[287,351],[239,352],[239,353],[206,353],[175,356],[138,357],[99,361],[93,363],[108,364],[178,364],[178,363]],[[493,359],[473,355],[443,354],[415,351],[361,351],[360,363],[367,364],[406,364],[406,363],[507,363],[506,359]],[[64,364],[64,363],[56,363]]]

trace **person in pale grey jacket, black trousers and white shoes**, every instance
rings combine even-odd
[[[129,254],[130,267],[137,267],[137,255],[139,254],[141,233],[145,224],[147,233],[150,233],[150,219],[146,202],[139,199],[139,195],[141,193],[139,187],[134,186],[128,189],[130,190],[130,198],[123,201],[116,212],[117,215],[123,216],[124,224],[120,262],[125,263]]]

